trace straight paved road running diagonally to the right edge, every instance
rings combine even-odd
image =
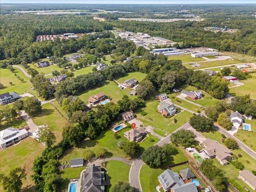
[[[248,155],[250,155],[252,158],[256,159],[256,153],[249,148],[248,146],[246,146],[242,141],[240,141],[239,139],[237,139],[236,137],[234,137],[233,135],[231,135],[227,130],[223,129],[222,127],[220,127],[217,124],[215,125],[215,129],[218,130],[219,132],[221,132],[222,134],[225,134],[226,137],[228,138],[232,138],[235,139],[239,145],[239,147],[244,150]]]

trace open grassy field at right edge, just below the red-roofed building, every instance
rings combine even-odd
[[[256,73],[250,75],[252,78],[241,81],[244,85],[231,88],[229,92],[232,95],[250,94],[251,99],[256,99]]]

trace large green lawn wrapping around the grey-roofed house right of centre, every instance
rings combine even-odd
[[[147,103],[145,108],[137,110],[137,117],[140,121],[145,125],[153,126],[154,132],[163,137],[167,134],[172,133],[176,129],[178,129],[181,125],[185,124],[189,121],[189,118],[193,116],[193,114],[188,111],[181,111],[179,114],[172,116],[171,118],[165,118],[161,114],[157,112],[158,101],[151,101]],[[145,116],[140,115],[141,110],[146,111],[148,113]],[[177,123],[173,122],[173,119],[177,119]]]

